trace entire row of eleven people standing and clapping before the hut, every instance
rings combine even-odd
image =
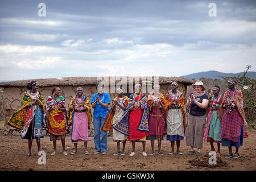
[[[94,145],[96,151],[106,154],[108,146],[108,131],[113,131],[113,140],[117,142],[117,151],[114,155],[125,155],[127,140],[132,142],[132,152],[135,155],[135,142],[142,142],[142,155],[147,156],[146,140],[151,141],[150,155],[155,154],[154,142],[158,142],[158,154],[163,155],[161,144],[163,135],[167,134],[167,140],[171,143],[170,155],[181,155],[180,141],[186,137],[187,146],[190,146],[188,154],[201,155],[203,140],[210,142],[211,150],[215,151],[213,142],[218,143],[217,155],[220,155],[220,143],[229,147],[227,158],[238,158],[238,148],[243,143],[243,137],[247,137],[247,123],[243,111],[242,92],[235,89],[236,81],[229,80],[229,90],[224,97],[219,95],[220,87],[214,86],[213,96],[208,98],[205,94],[203,82],[197,80],[192,85],[195,91],[189,94],[186,104],[184,95],[176,82],[172,82],[171,90],[164,97],[160,93],[160,85],[154,85],[154,92],[148,97],[141,93],[141,85],[136,84],[134,94],[130,97],[124,95],[122,88],[117,88],[117,97],[110,105],[110,96],[104,92],[104,85],[97,84],[97,93],[92,101],[84,95],[84,90],[79,87],[76,96],[72,98],[69,108],[65,108],[65,101],[60,88],[53,88],[52,94],[47,98],[46,104],[42,94],[38,91],[39,84],[31,81],[27,84],[28,90],[23,96],[23,105],[9,119],[10,126],[21,129],[20,137],[28,139],[28,154],[31,156],[32,139],[36,139],[38,151],[40,151],[40,138],[43,138],[42,128],[45,127],[53,141],[53,152],[56,155],[56,140],[61,140],[63,155],[68,155],[65,150],[65,135],[72,125],[72,143],[77,153],[77,142],[84,142],[84,153],[87,150],[88,129],[93,121]],[[94,109],[93,114],[90,104]],[[188,107],[186,116],[185,106]],[[206,108],[208,107],[208,111]],[[206,115],[207,120],[206,120]],[[206,128],[205,128],[205,124]],[[120,143],[123,143],[120,151]],[[232,146],[236,147],[233,155]],[[209,152],[209,151],[208,151]]]

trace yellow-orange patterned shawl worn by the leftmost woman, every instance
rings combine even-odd
[[[40,104],[42,104],[42,106],[43,106],[42,114],[44,114],[44,99],[40,92],[38,93],[38,100],[39,100]],[[20,107],[17,111],[15,111],[15,113],[10,117],[10,119],[8,120],[8,125],[10,125],[11,127],[15,127],[16,129],[23,130],[24,123],[25,123],[26,117],[27,117],[26,112],[27,112],[28,105],[32,104],[32,102],[34,102],[34,101],[35,100],[32,99],[27,92],[24,92],[22,107]],[[35,112],[36,112],[36,110],[35,110]],[[30,120],[30,122],[34,118],[35,112],[33,114],[31,114],[30,119],[28,119],[28,120]],[[27,122],[27,123],[30,125],[30,122]],[[29,127],[29,125],[27,127]]]

